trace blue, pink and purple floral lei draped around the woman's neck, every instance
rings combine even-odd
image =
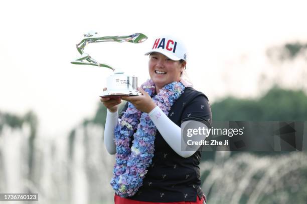
[[[141,87],[150,95],[156,92],[155,83],[149,79]],[[184,92],[182,82],[174,81],[164,86],[152,100],[168,115],[174,102]],[[136,130],[136,132],[135,132]],[[135,132],[135,133],[134,133]],[[111,185],[116,194],[128,197],[142,185],[146,168],[154,157],[157,128],[148,113],[140,112],[129,102],[128,108],[115,127],[116,163]],[[133,135],[132,147],[129,147]]]

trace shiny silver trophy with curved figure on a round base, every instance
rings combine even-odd
[[[87,64],[94,66],[104,66],[110,68],[114,73],[107,77],[107,89],[102,92],[101,96],[120,96],[120,95],[141,95],[137,90],[137,77],[134,75],[125,74],[123,71],[110,66],[106,63],[99,63],[97,60],[93,59],[89,54],[85,53],[84,47],[91,42],[132,42],[140,43],[147,39],[147,36],[142,33],[134,33],[131,35],[124,36],[104,36],[98,37],[97,32],[89,32],[84,34],[84,39],[82,39],[77,44],[77,50],[81,54],[79,58],[71,61],[73,64]]]

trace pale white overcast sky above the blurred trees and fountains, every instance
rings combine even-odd
[[[303,0],[10,0],[1,7],[0,111],[33,110],[45,137],[67,134],[101,105],[99,94],[112,71],[70,63],[89,30],[99,36],[148,36],[139,44],[85,48],[99,62],[137,75],[139,84],[149,77],[144,53],[153,38],[181,38],[189,50],[187,72],[211,102],[226,95],[259,95],[259,74],[276,73],[269,70],[267,48],[307,41]]]

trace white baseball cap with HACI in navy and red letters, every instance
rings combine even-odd
[[[152,49],[146,52],[145,55],[148,55],[152,52],[162,53],[172,60],[183,59],[187,61],[186,46],[181,40],[173,36],[165,35],[154,38]]]

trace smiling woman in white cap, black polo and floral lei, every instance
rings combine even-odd
[[[208,98],[183,79],[187,51],[182,41],[161,36],[149,55],[150,79],[140,96],[101,98],[107,107],[104,142],[116,153],[111,185],[115,203],[205,203],[200,187],[200,149],[181,147],[181,123],[211,125]],[[118,114],[118,104],[128,101]]]

